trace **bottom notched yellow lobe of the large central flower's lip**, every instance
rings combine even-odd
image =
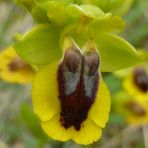
[[[91,120],[86,119],[80,131],[76,131],[73,127],[65,129],[60,121],[60,115],[55,115],[51,120],[42,122],[42,128],[45,133],[59,141],[67,141],[72,139],[78,144],[91,144],[96,142],[102,135],[102,130],[96,126]]]

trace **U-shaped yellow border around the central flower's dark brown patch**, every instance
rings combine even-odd
[[[60,141],[72,139],[79,144],[91,144],[101,137],[102,128],[108,121],[110,111],[108,88],[100,78],[95,102],[89,110],[82,128],[79,131],[76,131],[73,126],[65,129],[59,121],[61,112],[57,82],[59,63],[60,60],[54,61],[37,74],[32,94],[34,111],[49,137]]]

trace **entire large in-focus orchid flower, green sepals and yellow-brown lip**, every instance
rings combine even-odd
[[[30,12],[44,24],[36,25],[14,46],[28,63],[43,68],[33,84],[34,110],[50,137],[93,143],[100,138],[110,109],[100,71],[119,70],[140,59],[133,46],[117,36],[124,27],[120,17],[72,1],[34,2]],[[81,49],[90,38],[96,45],[89,41],[80,50],[72,39],[64,40],[67,35]]]

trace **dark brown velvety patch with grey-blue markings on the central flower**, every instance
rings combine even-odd
[[[98,90],[99,63],[94,50],[84,54],[76,47],[66,50],[58,68],[60,122],[65,129],[83,126]]]

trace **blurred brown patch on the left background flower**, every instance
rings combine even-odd
[[[30,68],[30,69],[32,69],[30,65],[24,63],[21,60],[21,58],[19,58],[19,57],[14,58],[11,61],[11,63],[8,65],[8,67],[9,67],[10,71],[17,71],[17,70],[20,70],[20,69],[23,69],[23,68]]]

